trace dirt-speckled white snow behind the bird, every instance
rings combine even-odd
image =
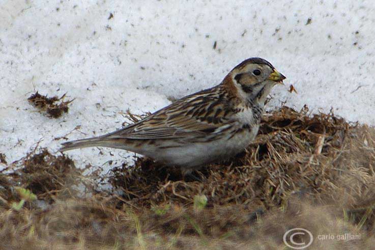
[[[55,152],[66,141],[56,137],[121,128],[126,110],[154,112],[170,97],[217,85],[249,57],[287,76],[269,108],[282,101],[313,113],[333,107],[374,125],[374,11],[372,0],[3,0],[0,152],[11,162],[40,140]],[[287,92],[290,84],[298,94]],[[50,119],[27,102],[36,90],[75,100],[68,114]],[[97,148],[67,154],[106,171],[109,160],[133,155]]]

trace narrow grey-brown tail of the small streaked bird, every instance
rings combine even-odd
[[[113,140],[110,140],[109,138],[106,139],[103,136],[66,142],[66,143],[62,143],[61,145],[63,145],[63,147],[61,149],[59,149],[60,152],[72,150],[72,149],[78,149],[78,148],[88,148],[88,147],[116,148],[116,145],[113,142]]]

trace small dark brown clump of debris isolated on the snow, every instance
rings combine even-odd
[[[68,113],[68,104],[73,100],[63,101],[66,93],[58,98],[57,96],[47,97],[47,95],[41,95],[38,91],[27,98],[33,106],[47,113],[50,118],[59,118],[63,113]]]

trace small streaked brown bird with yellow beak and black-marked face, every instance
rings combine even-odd
[[[269,62],[249,58],[222,82],[185,96],[127,127],[98,137],[63,143],[60,151],[109,147],[132,151],[183,176],[243,151],[258,133],[268,94],[285,79]]]

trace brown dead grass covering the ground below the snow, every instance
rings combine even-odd
[[[139,158],[112,170],[115,190],[91,186],[82,197],[89,177],[42,150],[0,174],[0,238],[5,249],[282,249],[287,230],[305,228],[307,249],[371,249],[374,160],[374,129],[287,107],[264,116],[246,152],[200,171],[201,182]],[[15,186],[38,201],[15,211]],[[345,233],[361,239],[318,239]]]

